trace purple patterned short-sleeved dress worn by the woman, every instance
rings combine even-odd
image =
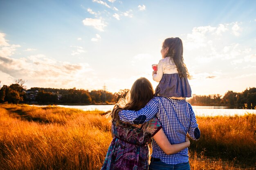
[[[162,128],[157,118],[145,124],[124,122],[116,127],[112,122],[113,138],[101,170],[148,170],[148,144]]]

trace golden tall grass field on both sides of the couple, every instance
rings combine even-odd
[[[99,170],[112,140],[110,118],[102,114],[56,106],[0,105],[0,170]],[[239,168],[243,164],[222,161],[218,155],[225,150],[245,157],[254,154],[256,115],[197,119],[202,136],[190,147],[191,170],[243,169]],[[211,157],[205,155],[210,153]]]

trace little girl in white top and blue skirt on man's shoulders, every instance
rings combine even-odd
[[[156,96],[186,99],[191,97],[190,77],[183,60],[183,45],[180,38],[166,38],[163,42],[162,60],[157,71],[153,71],[153,79],[159,82],[155,89]]]

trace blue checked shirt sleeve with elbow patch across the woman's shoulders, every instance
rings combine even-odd
[[[143,124],[146,121],[152,119],[159,110],[159,101],[157,97],[151,99],[144,108],[138,111],[133,110],[121,110],[118,115],[121,121],[128,122],[130,124]]]

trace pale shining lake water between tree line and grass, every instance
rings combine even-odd
[[[81,110],[102,110],[104,112],[112,110],[114,105],[87,105],[87,106],[67,106],[57,105],[64,108],[77,108]],[[244,115],[245,113],[256,114],[256,110],[253,109],[230,109],[227,107],[216,107],[216,106],[192,106],[195,115],[197,116],[232,116],[232,115]]]

